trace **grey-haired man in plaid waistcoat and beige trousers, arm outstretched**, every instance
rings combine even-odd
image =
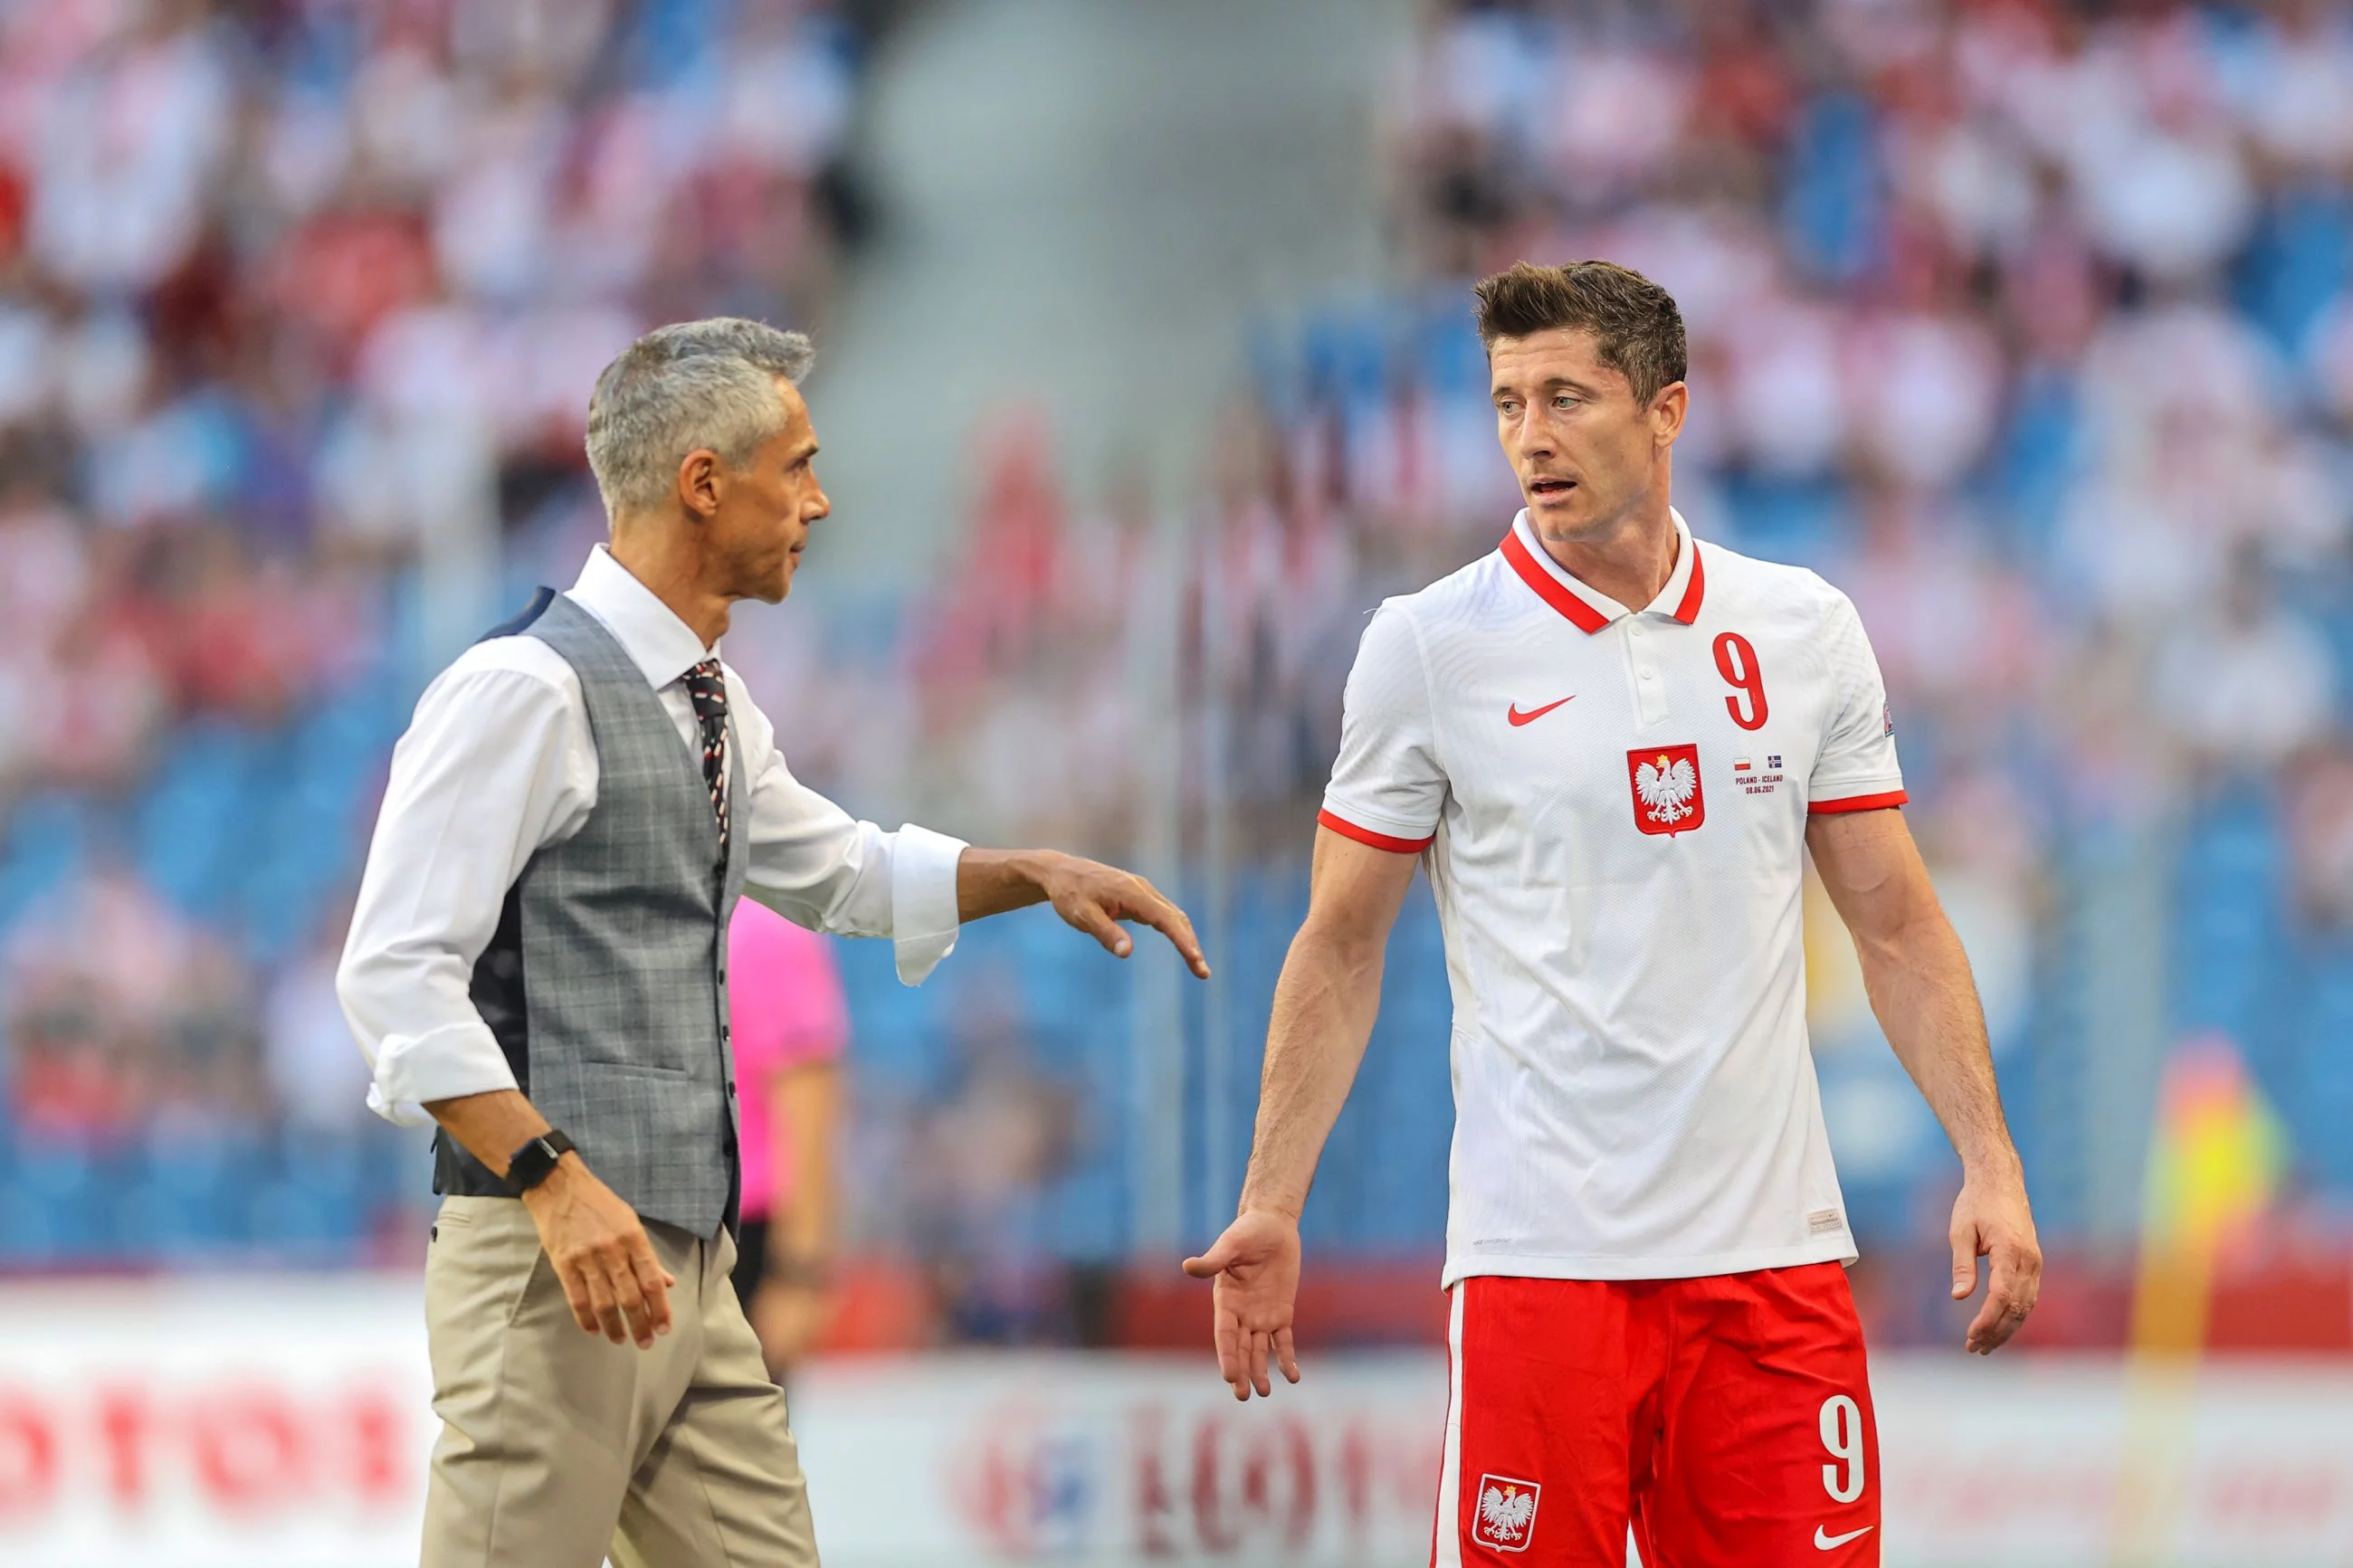
[[[892,938],[911,985],[960,922],[1040,900],[1120,957],[1118,922],[1158,926],[1207,973],[1139,877],[882,832],[786,769],[718,642],[736,599],[784,599],[831,510],[809,357],[706,320],[607,364],[609,548],[449,665],[393,752],[336,980],[369,1105],[440,1124],[426,1568],[816,1561],[729,1284],[739,893]]]

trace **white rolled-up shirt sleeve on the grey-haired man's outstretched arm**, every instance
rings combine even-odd
[[[729,686],[751,790],[744,893],[812,931],[892,938],[899,980],[922,985],[955,950],[965,842],[913,823],[885,832],[856,820],[793,778],[767,717]]]

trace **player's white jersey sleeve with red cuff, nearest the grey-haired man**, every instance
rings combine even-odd
[[[1358,844],[1412,856],[1438,835],[1445,797],[1421,639],[1402,609],[1384,604],[1348,670],[1339,759],[1315,820]]]

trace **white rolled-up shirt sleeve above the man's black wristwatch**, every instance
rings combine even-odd
[[[473,966],[522,865],[576,830],[595,792],[565,670],[487,658],[442,672],[393,750],[334,976],[374,1070],[367,1105],[402,1126],[431,1121],[433,1100],[518,1086],[473,1006]]]

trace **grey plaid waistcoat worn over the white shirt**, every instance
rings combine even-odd
[[[579,675],[598,790],[581,830],[541,846],[508,889],[473,1004],[515,1081],[607,1187],[647,1220],[715,1237],[739,1197],[727,917],[751,813],[734,717],[722,865],[701,755],[614,635],[546,590],[499,630],[539,637]],[[433,1190],[513,1197],[447,1135]]]

